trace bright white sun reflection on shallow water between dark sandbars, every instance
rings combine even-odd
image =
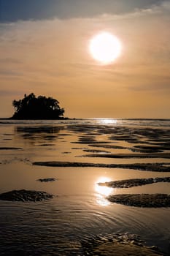
[[[100,177],[95,183],[95,192],[96,192],[96,202],[100,206],[109,206],[109,200],[107,200],[106,197],[111,195],[113,193],[113,188],[112,187],[105,187],[105,186],[99,186],[98,183],[100,182],[107,182],[111,181],[110,178],[107,177]]]

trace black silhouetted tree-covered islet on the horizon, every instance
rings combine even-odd
[[[60,108],[57,99],[38,96],[33,93],[24,95],[23,99],[13,100],[15,119],[59,119],[63,118],[64,109]]]

